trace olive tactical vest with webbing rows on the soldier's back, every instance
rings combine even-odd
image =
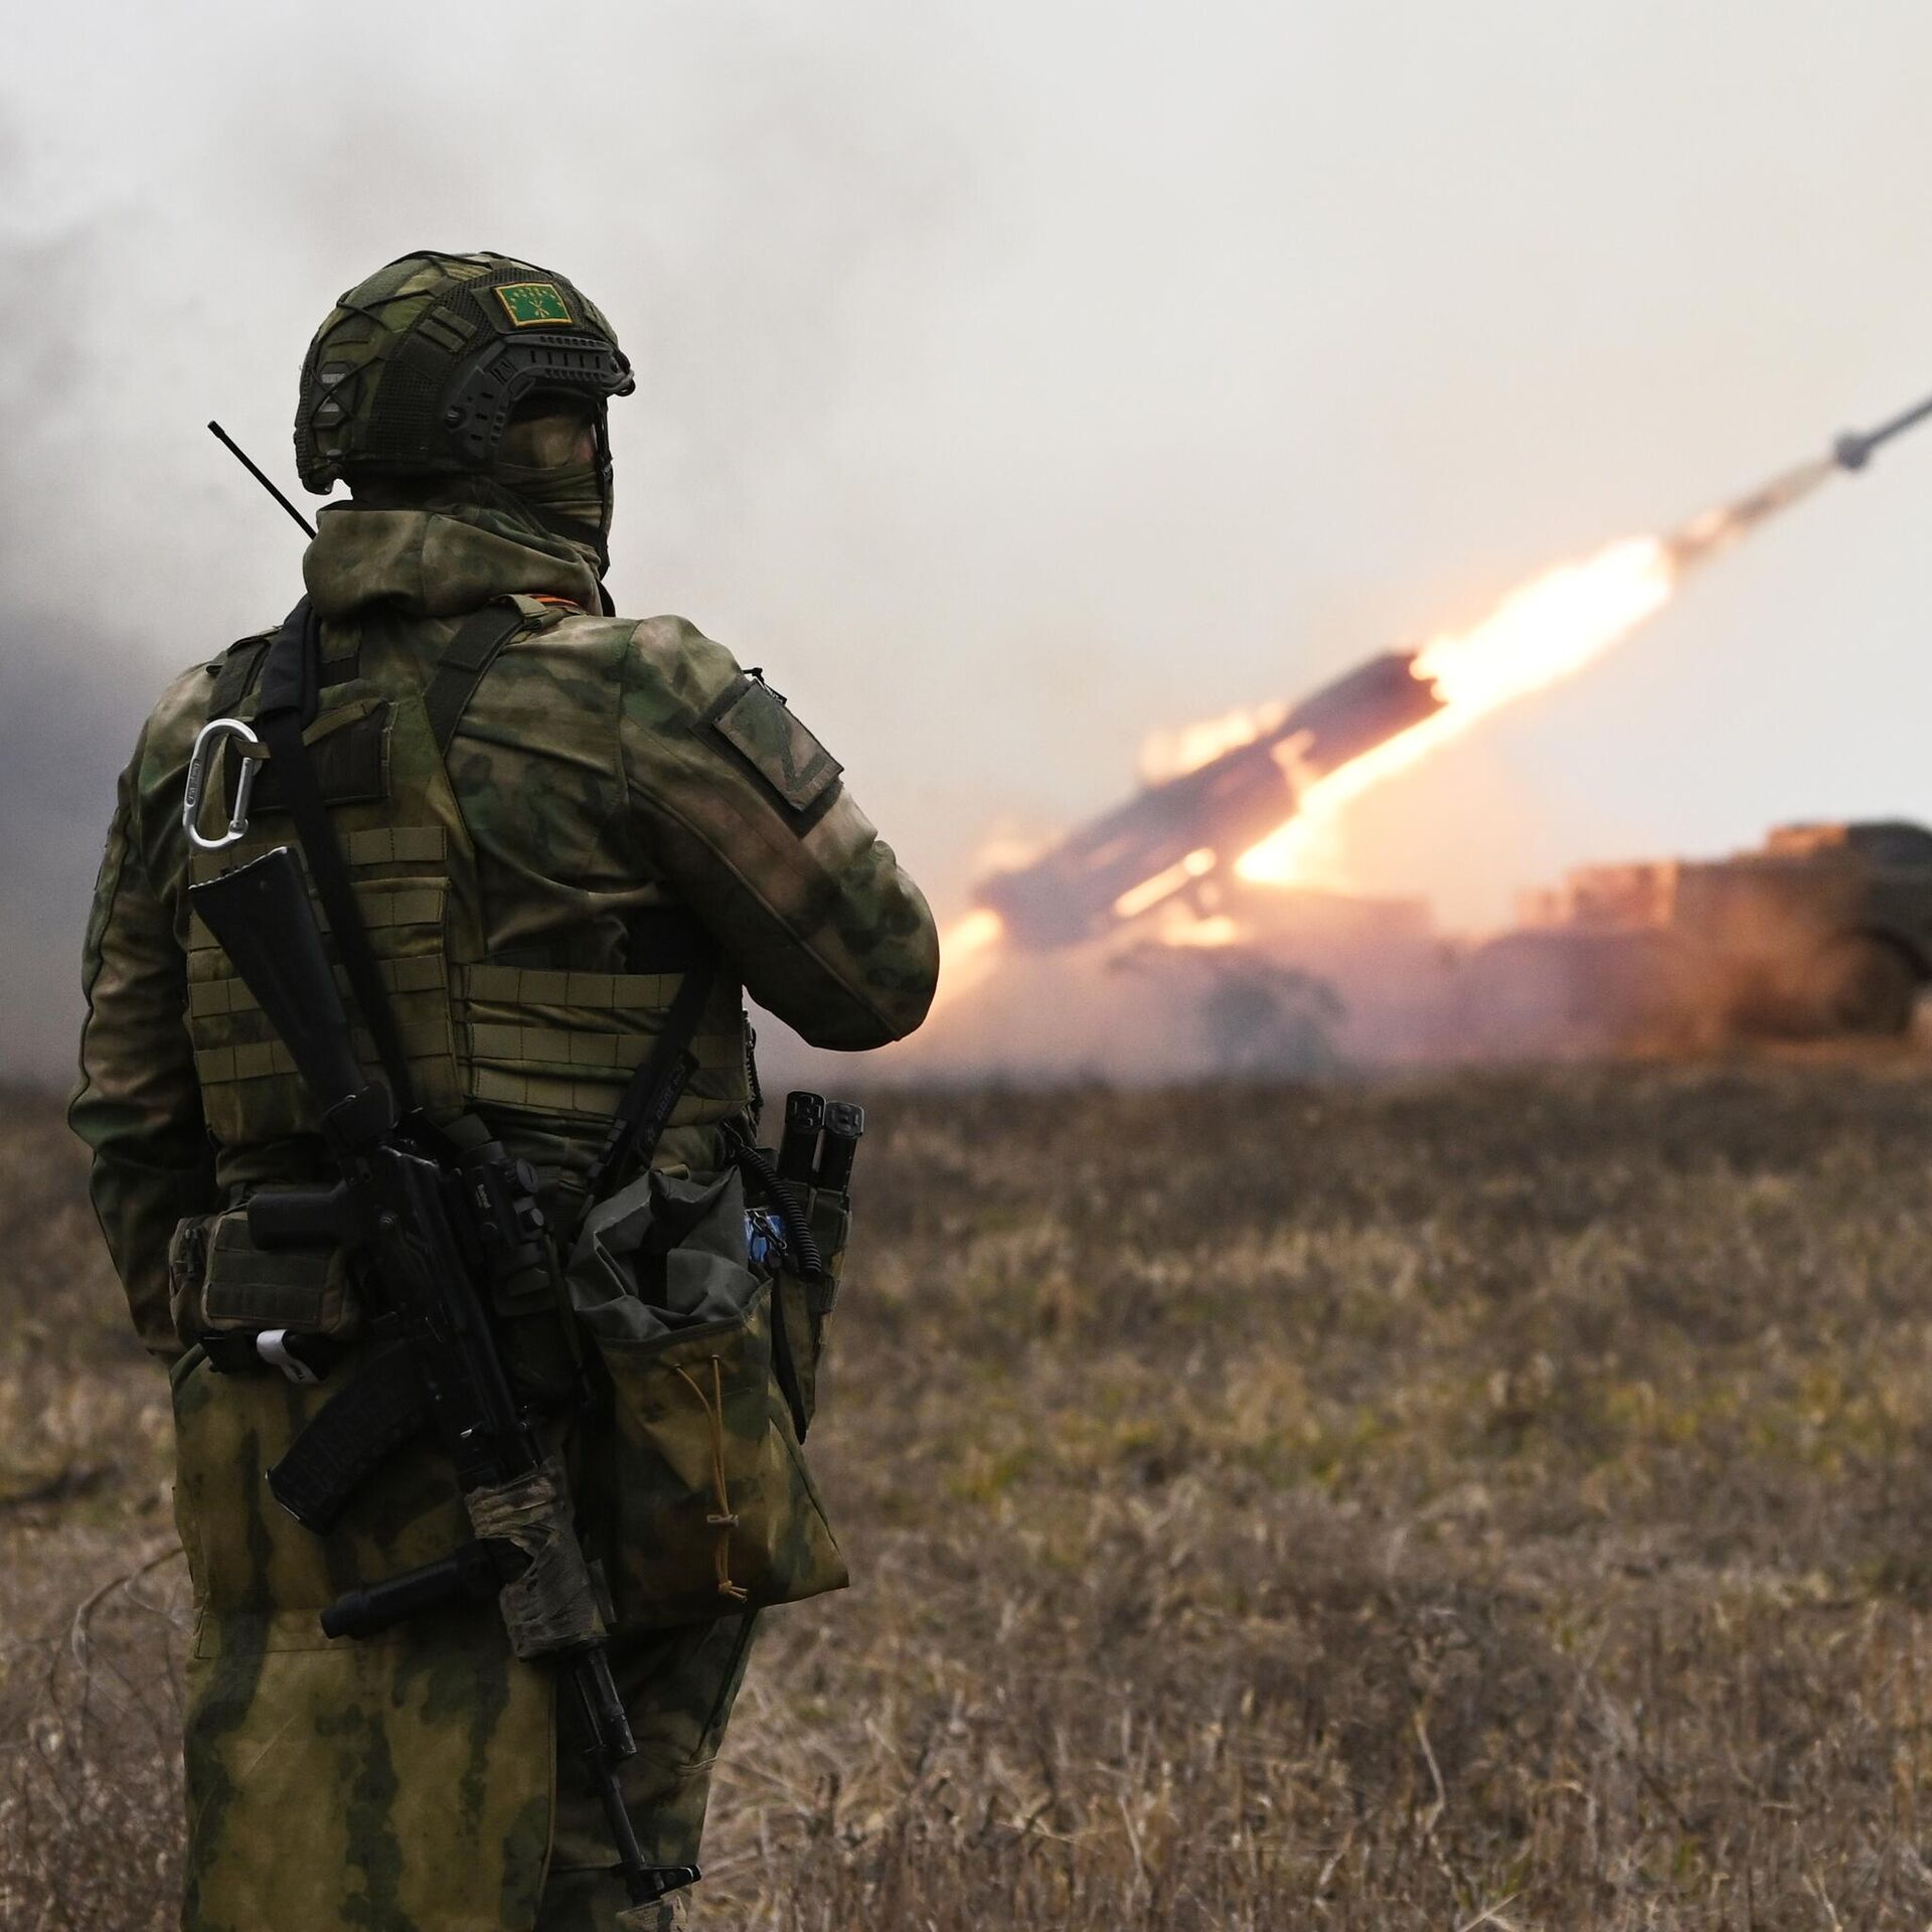
[[[595,1146],[697,958],[697,933],[688,914],[667,906],[651,937],[634,947],[647,956],[612,960],[611,972],[491,956],[477,856],[444,763],[498,653],[574,609],[502,597],[454,626],[381,618],[328,624],[317,715],[303,738],[388,989],[417,1103],[435,1121],[477,1107],[506,1138],[522,1138],[516,1128],[526,1126],[545,1140]],[[421,639],[439,630],[446,632],[440,651],[425,657]],[[259,636],[228,651],[209,717],[253,717],[267,649],[269,638]],[[232,775],[226,782],[232,792]],[[191,879],[199,883],[294,842],[270,759],[255,786],[247,837],[222,852],[193,852]],[[321,906],[317,916],[325,918]],[[350,997],[340,968],[336,978]],[[350,1010],[355,1016],[354,999]],[[315,1107],[288,1049],[214,935],[193,916],[187,1030],[207,1124],[224,1151],[317,1132]],[[375,1072],[367,1028],[357,1026],[355,1043],[365,1070]],[[717,1124],[752,1101],[740,989],[723,978],[692,1053],[697,1072],[670,1117],[667,1153],[694,1148],[694,1136],[680,1128]]]

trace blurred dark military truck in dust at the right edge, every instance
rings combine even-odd
[[[1932,831],[1783,825],[1731,858],[1584,866],[1464,976],[1476,1026],[1538,1041],[1903,1034],[1932,980]]]

